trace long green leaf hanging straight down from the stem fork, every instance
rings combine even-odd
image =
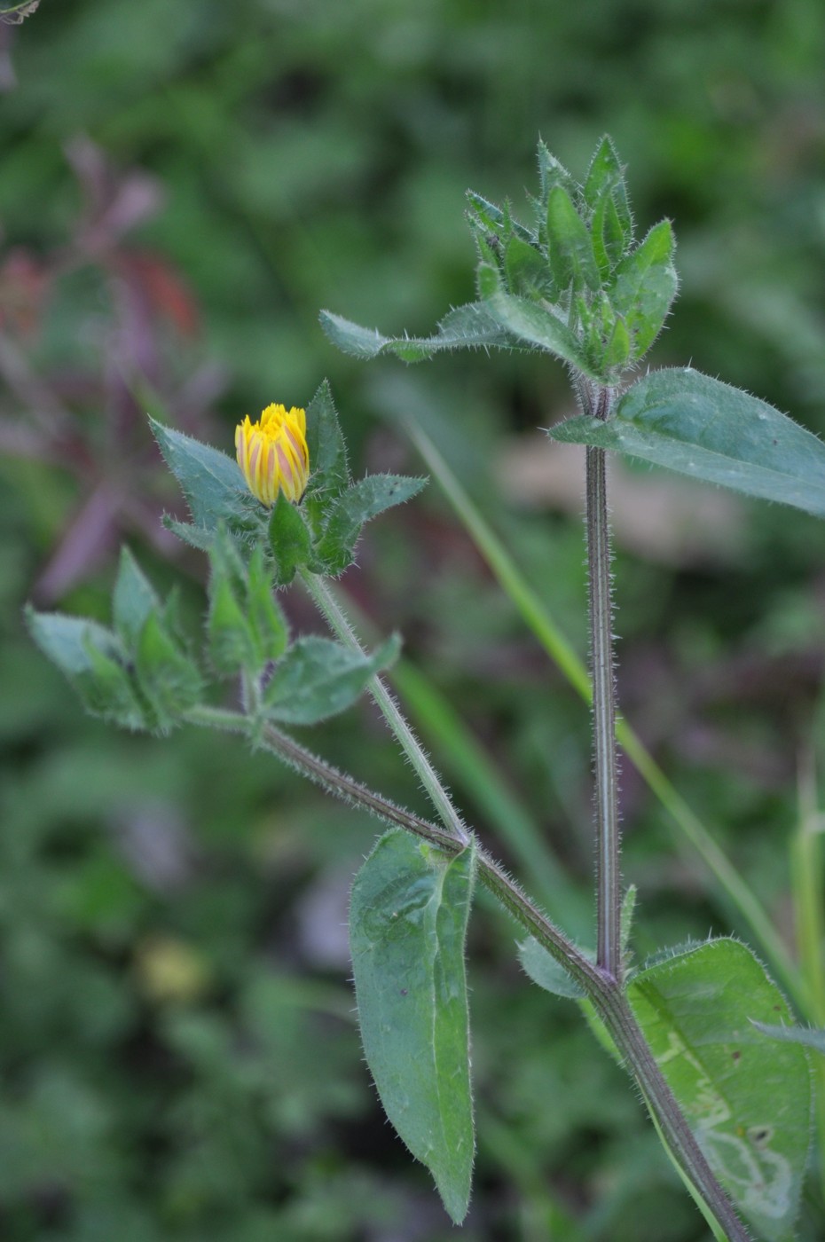
[[[349,908],[367,1062],[388,1118],[456,1225],[473,1160],[465,976],[473,879],[472,846],[446,861],[389,832],[355,877]]]

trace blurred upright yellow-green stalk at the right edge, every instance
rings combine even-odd
[[[799,965],[808,984],[811,1022],[819,1027],[825,1027],[824,826],[825,817],[816,799],[814,761],[813,756],[808,756],[799,774],[799,821],[790,842],[790,883]],[[825,1058],[815,1057],[813,1069],[819,1176],[825,1195]]]

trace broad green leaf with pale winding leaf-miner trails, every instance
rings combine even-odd
[[[749,949],[713,940],[637,974],[627,997],[713,1172],[764,1242],[790,1242],[810,1136],[805,1051],[752,1021],[789,1020]]]

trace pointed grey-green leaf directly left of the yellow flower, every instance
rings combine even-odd
[[[250,520],[248,488],[234,457],[150,419],[164,461],[180,483],[196,527],[214,530],[230,518]]]

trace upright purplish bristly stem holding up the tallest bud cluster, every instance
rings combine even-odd
[[[606,419],[610,390],[588,394],[590,414]],[[593,766],[596,831],[596,963],[621,981],[619,758],[610,590],[610,524],[604,448],[586,450],[585,512],[593,679]]]

